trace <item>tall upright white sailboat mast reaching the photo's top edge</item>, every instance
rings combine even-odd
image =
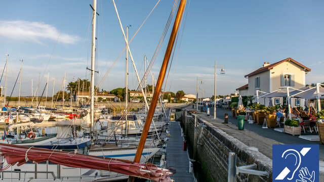
[[[93,131],[94,120],[94,94],[95,94],[95,52],[96,52],[96,14],[97,14],[97,0],[93,0],[92,12],[92,49],[91,49],[91,97],[90,97],[90,119],[91,132]]]

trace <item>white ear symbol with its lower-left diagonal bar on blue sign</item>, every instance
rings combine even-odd
[[[295,172],[298,170],[298,168],[300,167],[300,163],[301,163],[301,156],[300,156],[299,152],[294,149],[286,150],[284,153],[282,153],[281,158],[287,159],[287,157],[290,155],[294,156],[296,158],[296,162],[294,164],[294,166],[296,168],[294,169],[292,176],[287,177],[288,180],[291,180],[292,178],[294,178]],[[285,179],[285,177],[290,173],[290,171],[292,171],[292,170],[290,170],[288,167],[285,167],[285,169],[282,170],[280,172],[280,174],[275,179],[278,179],[278,180]]]

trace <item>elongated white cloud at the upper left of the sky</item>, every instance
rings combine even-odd
[[[57,28],[43,22],[29,21],[0,21],[0,35],[12,38],[43,43],[44,39],[51,39],[61,43],[74,44],[80,38],[59,32]]]

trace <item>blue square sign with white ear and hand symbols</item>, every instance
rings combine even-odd
[[[318,182],[318,145],[273,145],[272,181]]]

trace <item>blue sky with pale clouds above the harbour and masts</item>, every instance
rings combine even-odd
[[[124,28],[131,25],[132,37],[158,0],[116,0]],[[9,54],[7,95],[12,92],[23,60],[21,95],[37,89],[42,94],[49,73],[48,95],[77,78],[89,78],[91,67],[92,1],[5,1],[0,12],[0,71]],[[174,1],[160,1],[130,43],[134,62],[142,77],[144,55],[151,60]],[[274,63],[293,58],[311,68],[306,83],[323,82],[324,73],[323,1],[190,1],[182,20],[166,91],[184,90],[199,97],[214,95],[214,64],[224,66],[217,75],[217,95],[234,93],[248,82],[244,75]],[[96,78],[98,83],[125,48],[112,1],[97,2]],[[174,20],[172,21],[173,25]],[[152,72],[157,78],[171,28],[161,47]],[[112,67],[100,88],[125,87],[125,57]],[[1,59],[2,58],[2,59]],[[217,69],[220,72],[220,69]],[[129,63],[129,88],[138,85]],[[3,76],[0,85],[5,85]],[[31,79],[33,88],[31,88]],[[147,78],[151,84],[151,76]],[[19,79],[13,96],[18,95]]]

